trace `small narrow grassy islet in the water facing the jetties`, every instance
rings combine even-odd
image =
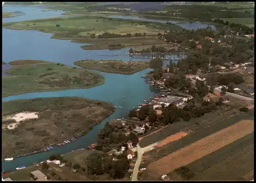
[[[75,65],[105,73],[131,75],[150,67],[149,62],[125,62],[121,60],[79,60]]]

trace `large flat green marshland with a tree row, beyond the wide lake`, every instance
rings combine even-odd
[[[5,22],[4,28],[38,30],[52,33],[52,38],[90,43],[82,49],[121,49],[166,44],[157,38],[159,32],[182,30],[180,26],[161,22],[112,18],[94,15],[53,17],[46,19]],[[76,29],[74,29],[74,27]]]

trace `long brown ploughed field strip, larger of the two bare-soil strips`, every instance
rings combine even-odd
[[[159,176],[196,161],[254,131],[254,121],[243,120],[150,164]],[[166,163],[169,162],[169,163]]]

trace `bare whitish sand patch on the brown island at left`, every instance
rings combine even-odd
[[[38,118],[37,112],[20,112],[20,113],[16,113],[16,115],[11,116],[11,117],[7,117],[4,120],[15,120],[16,123],[11,123],[9,125],[3,125],[3,128],[8,128],[8,129],[14,129],[17,127],[18,123],[21,121],[26,121],[29,119],[36,119]]]

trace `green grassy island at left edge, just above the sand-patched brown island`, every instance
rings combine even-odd
[[[36,63],[36,66],[33,66]],[[79,68],[47,61],[21,60],[10,62],[13,67],[2,79],[2,95],[18,95],[35,91],[89,88],[104,83],[102,75]]]

